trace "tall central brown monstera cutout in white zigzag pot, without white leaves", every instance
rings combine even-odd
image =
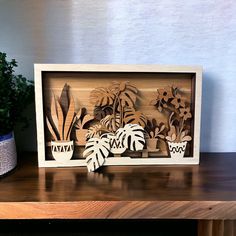
[[[138,98],[138,89],[128,81],[113,81],[108,88],[96,88],[90,94],[96,117],[102,118],[99,121],[103,129],[110,132],[111,152],[114,154],[121,154],[126,150],[115,135],[119,128],[126,124],[138,124],[143,128],[146,126],[146,117],[136,110]]]

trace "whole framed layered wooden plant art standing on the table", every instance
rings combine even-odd
[[[198,164],[201,73],[160,65],[36,65],[39,167]]]

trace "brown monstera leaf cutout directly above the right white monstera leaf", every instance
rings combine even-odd
[[[145,128],[147,125],[147,118],[142,112],[127,108],[125,110],[124,122],[125,124],[138,124]]]

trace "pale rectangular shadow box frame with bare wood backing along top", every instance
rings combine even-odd
[[[37,118],[37,144],[38,144],[38,165],[39,167],[69,167],[86,166],[83,158],[71,159],[67,163],[60,163],[54,159],[47,158],[47,140],[45,112],[45,93],[61,90],[61,84],[72,83],[72,90],[76,91],[78,81],[86,83],[86,78],[93,84],[93,79],[105,84],[112,80],[125,80],[139,84],[155,99],[157,85],[160,87],[177,86],[181,87],[183,78],[183,90],[189,91],[189,98],[192,107],[192,141],[189,145],[189,154],[184,158],[170,158],[167,155],[157,155],[149,158],[142,157],[108,157],[104,166],[109,165],[169,165],[169,164],[199,164],[200,155],[200,117],[201,117],[201,94],[202,94],[202,68],[200,66],[165,66],[165,65],[105,65],[105,64],[35,64],[35,100]],[[84,76],[86,75],[86,76]],[[89,77],[91,75],[91,78]],[[82,79],[81,79],[82,78]],[[104,82],[103,82],[104,78]],[[55,81],[54,81],[55,79]],[[59,82],[58,82],[58,81]],[[175,84],[176,81],[176,84]],[[185,82],[184,82],[185,81]],[[99,83],[100,83],[99,82]],[[74,84],[73,84],[74,83]],[[155,84],[159,83],[159,84]],[[169,83],[169,84],[168,84]],[[46,84],[46,85],[45,85]],[[186,88],[184,87],[186,85]],[[163,85],[163,86],[162,86]],[[52,87],[50,87],[52,86]],[[54,87],[53,87],[54,86]],[[95,86],[96,87],[96,86]],[[94,87],[94,88],[95,88]],[[91,88],[91,89],[94,89]],[[88,89],[85,85],[82,89]],[[76,92],[75,92],[76,93]],[[149,96],[149,95],[148,95]],[[81,96],[78,100],[82,98]],[[85,99],[85,98],[83,98]],[[147,110],[150,108],[147,105]],[[145,108],[145,109],[146,109]],[[153,108],[150,108],[153,109]],[[149,112],[150,114],[152,112]],[[149,114],[149,115],[150,115]],[[164,153],[164,151],[163,151]]]

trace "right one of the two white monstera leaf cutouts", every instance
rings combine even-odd
[[[127,124],[124,128],[119,128],[116,131],[116,137],[131,151],[143,150],[145,144],[144,129],[140,125]]]

